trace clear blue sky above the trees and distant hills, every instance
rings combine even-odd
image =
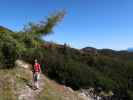
[[[66,15],[43,37],[74,48],[124,50],[133,47],[133,0],[0,0],[0,25],[14,31],[65,9]]]

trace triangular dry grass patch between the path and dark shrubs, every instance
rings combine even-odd
[[[45,78],[45,86],[37,100],[82,100],[78,93]]]

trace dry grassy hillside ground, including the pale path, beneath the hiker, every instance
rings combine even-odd
[[[40,89],[32,89],[30,65],[17,62],[14,69],[1,69],[0,100],[89,100],[72,89],[41,75]]]

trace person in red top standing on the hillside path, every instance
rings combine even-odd
[[[39,81],[39,78],[40,78],[40,73],[41,73],[40,64],[38,63],[37,59],[35,59],[33,78],[34,78],[34,87],[36,89],[39,89],[38,81]]]

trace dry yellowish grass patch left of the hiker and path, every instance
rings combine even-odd
[[[0,77],[0,100],[18,100],[18,91],[30,79],[28,73],[18,68],[1,69]]]

